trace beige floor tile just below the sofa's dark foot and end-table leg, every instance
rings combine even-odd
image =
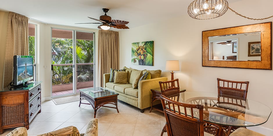
[[[137,118],[137,124],[159,124],[160,125],[160,115],[156,114],[139,114]]]

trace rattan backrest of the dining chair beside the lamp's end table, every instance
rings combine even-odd
[[[168,97],[180,93],[178,79],[170,81],[159,81],[161,94]]]

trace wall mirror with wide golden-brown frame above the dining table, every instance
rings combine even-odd
[[[272,69],[272,22],[202,31],[202,66]]]

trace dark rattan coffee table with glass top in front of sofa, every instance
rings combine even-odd
[[[80,89],[80,104],[89,104],[94,109],[94,118],[100,107],[114,108],[118,111],[118,93],[112,92],[102,87]],[[82,103],[82,100],[87,100],[89,103]],[[79,104],[79,107],[80,107]],[[105,104],[113,104],[116,107],[105,106]]]

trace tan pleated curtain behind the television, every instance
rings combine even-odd
[[[13,56],[28,55],[28,20],[26,16],[10,12],[4,66],[4,87],[12,81]]]

